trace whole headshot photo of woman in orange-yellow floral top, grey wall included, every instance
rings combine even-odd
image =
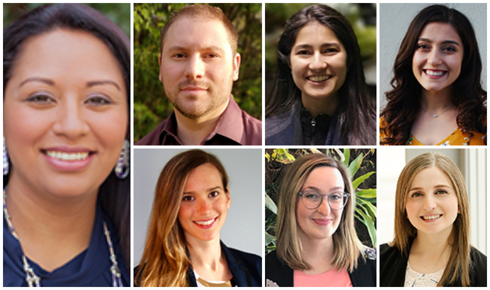
[[[486,3],[381,3],[381,145],[486,145]]]

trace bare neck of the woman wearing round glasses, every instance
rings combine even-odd
[[[331,270],[333,260],[333,238],[326,239],[306,238],[299,233],[301,242],[301,257],[311,266],[308,270],[301,270],[306,274],[321,274]]]

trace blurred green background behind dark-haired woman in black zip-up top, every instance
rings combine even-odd
[[[265,3],[265,97],[269,97],[277,74],[277,43],[284,24],[294,13],[314,3]],[[342,13],[352,25],[364,64],[364,74],[372,101],[376,102],[376,4],[327,3]]]

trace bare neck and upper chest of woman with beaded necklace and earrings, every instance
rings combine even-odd
[[[96,192],[83,198],[46,198],[49,195],[20,186],[10,178],[5,194],[6,208],[24,254],[45,270],[65,264],[88,247]]]

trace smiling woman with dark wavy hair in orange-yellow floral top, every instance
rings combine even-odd
[[[380,113],[382,145],[485,145],[486,91],[473,27],[431,5],[410,23]]]

